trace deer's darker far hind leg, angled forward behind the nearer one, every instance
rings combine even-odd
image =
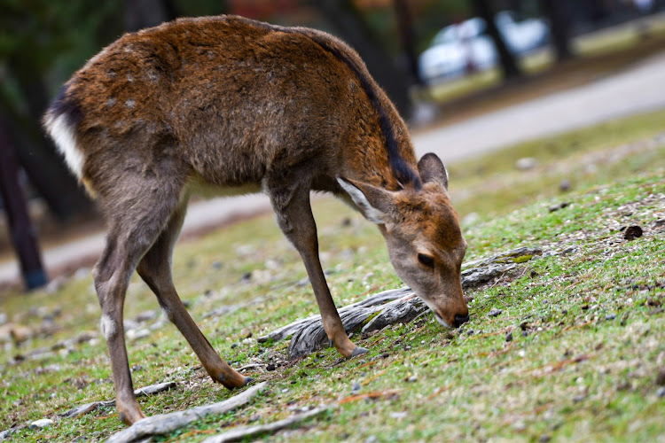
[[[145,253],[138,264],[138,275],[153,290],[164,314],[187,339],[208,375],[215,382],[221,383],[229,389],[244,386],[251,382],[252,378],[240,375],[219,357],[213,346],[210,345],[207,338],[192,320],[180,297],[178,297],[176,287],[173,284],[171,256],[173,246],[183,224],[185,206],[186,202],[182,202],[181,206],[171,216],[166,228],[161,231],[160,237]]]

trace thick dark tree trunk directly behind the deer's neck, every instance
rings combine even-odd
[[[372,41],[370,30],[356,12],[351,0],[311,0],[311,2],[337,30],[341,39],[358,51],[374,80],[386,90],[403,118],[407,119],[411,113],[411,98],[406,74],[395,68],[387,51]]]

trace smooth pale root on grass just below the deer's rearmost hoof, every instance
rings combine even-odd
[[[245,392],[211,405],[198,406],[185,411],[171,412],[169,414],[160,414],[158,416],[149,416],[129,428],[114,433],[106,443],[137,441],[153,435],[162,435],[168,432],[176,431],[187,424],[200,420],[204,416],[212,414],[219,415],[229,412],[235,408],[245,405],[257,393],[261,392],[266,383],[260,383],[252,386]]]

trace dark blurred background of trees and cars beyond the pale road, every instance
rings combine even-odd
[[[27,287],[41,248],[103,229],[43,135],[51,97],[124,32],[221,13],[340,36],[421,137],[665,51],[665,0],[0,0],[0,265]]]

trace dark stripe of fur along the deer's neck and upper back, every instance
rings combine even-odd
[[[265,24],[263,24],[263,26],[265,26]],[[413,171],[413,169],[411,169],[411,167],[404,161],[404,159],[400,155],[399,144],[397,143],[397,138],[395,137],[395,131],[393,130],[393,125],[390,123],[390,119],[387,116],[386,110],[381,105],[379,96],[376,93],[376,90],[373,88],[372,82],[370,81],[370,79],[367,78],[366,75],[364,75],[360,66],[356,66],[356,63],[354,63],[352,59],[348,58],[337,48],[328,44],[328,42],[325,41],[325,39],[320,38],[319,35],[311,35],[305,32],[304,29],[299,29],[297,27],[294,28],[280,27],[276,25],[268,25],[268,27],[270,27],[273,30],[278,30],[285,33],[290,33],[290,34],[298,33],[301,35],[305,35],[312,42],[317,43],[317,45],[321,49],[330,52],[335,58],[338,58],[341,62],[343,62],[346,66],[348,66],[348,68],[356,75],[356,78],[362,85],[365,94],[367,94],[367,97],[372,102],[372,106],[374,107],[374,109],[376,109],[377,113],[379,113],[379,126],[381,128],[381,133],[386,139],[385,147],[387,151],[388,165],[395,174],[395,178],[403,186],[406,186],[407,184],[411,183],[416,190],[420,190],[422,185],[420,183],[420,176],[416,174]]]

